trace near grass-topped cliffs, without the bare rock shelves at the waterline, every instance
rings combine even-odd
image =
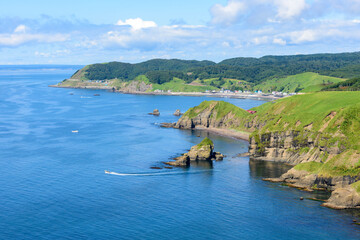
[[[204,101],[189,109],[177,127],[250,132],[255,156],[293,159],[301,170],[327,176],[360,173],[359,92],[296,95],[251,110],[257,112]]]

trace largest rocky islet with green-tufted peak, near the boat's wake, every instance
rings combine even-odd
[[[204,138],[201,143],[191,147],[190,151],[180,157],[175,158],[173,162],[166,164],[172,166],[189,166],[191,161],[221,161],[224,155],[214,152],[214,143],[209,138]]]

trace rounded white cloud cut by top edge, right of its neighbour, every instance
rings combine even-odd
[[[307,8],[305,0],[275,0],[277,6],[277,17],[280,19],[291,19],[299,16]]]

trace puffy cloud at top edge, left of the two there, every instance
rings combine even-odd
[[[230,25],[236,22],[246,10],[246,4],[238,0],[229,0],[226,6],[215,4],[211,9],[212,23]]]

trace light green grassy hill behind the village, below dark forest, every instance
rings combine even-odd
[[[315,92],[320,91],[329,83],[338,83],[345,79],[328,77],[317,73],[306,72],[288,76],[285,78],[275,78],[268,80],[254,87],[255,90],[263,92],[282,91],[282,92]]]

